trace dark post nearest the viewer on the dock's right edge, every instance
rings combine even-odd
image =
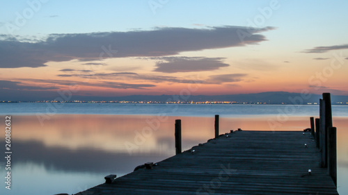
[[[333,183],[335,183],[335,186],[337,187],[337,130],[335,127],[330,127],[328,131],[328,171]]]

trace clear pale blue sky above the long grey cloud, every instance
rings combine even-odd
[[[160,3],[162,1],[163,4]],[[15,34],[129,31],[156,26],[192,27],[193,24],[248,26],[247,19],[255,19],[260,14],[259,8],[267,7],[271,2],[162,1],[39,1],[41,8]],[[273,10],[262,26],[308,29],[314,26],[322,33],[332,33],[338,26],[341,26],[340,30],[347,30],[347,25],[344,25],[347,1],[278,1],[276,4],[279,8]],[[17,17],[15,12],[23,14],[26,8],[30,8],[29,3],[22,0],[1,1],[0,5],[3,23],[14,22]],[[301,30],[306,33],[306,29]],[[1,33],[7,34],[6,29],[1,28]]]

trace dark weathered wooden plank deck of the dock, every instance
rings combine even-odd
[[[243,130],[211,139],[157,162],[152,169],[138,169],[79,195],[338,194],[319,162],[319,150],[310,132]]]

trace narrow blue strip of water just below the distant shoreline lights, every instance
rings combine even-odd
[[[348,117],[348,106],[333,105],[333,116]],[[319,115],[319,105],[132,104],[132,103],[0,103],[0,115],[158,115],[226,117],[248,115]]]

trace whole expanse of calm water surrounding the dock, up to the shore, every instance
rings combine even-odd
[[[174,123],[182,119],[183,150],[230,129],[303,130],[317,105],[146,105],[0,103],[0,128],[12,119],[12,184],[0,194],[77,193],[104,176],[175,154]],[[333,105],[338,128],[338,192],[348,194],[348,106]],[[5,133],[0,146],[5,146]],[[4,147],[3,147],[4,148]],[[4,154],[3,154],[4,155]],[[3,158],[1,158],[3,159]],[[0,175],[5,176],[4,160]],[[3,179],[4,181],[4,179]]]

